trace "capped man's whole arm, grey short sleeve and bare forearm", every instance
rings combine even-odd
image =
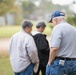
[[[56,57],[56,54],[60,47],[61,39],[62,39],[62,30],[59,28],[59,26],[57,26],[53,29],[50,40],[50,48],[51,48],[49,57],[50,64]]]

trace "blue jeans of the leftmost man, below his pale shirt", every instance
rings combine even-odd
[[[32,75],[34,64],[30,64],[23,72],[14,73],[15,75]]]

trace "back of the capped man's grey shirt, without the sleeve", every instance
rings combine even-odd
[[[63,22],[55,26],[54,31],[61,40],[57,56],[76,58],[76,29]]]

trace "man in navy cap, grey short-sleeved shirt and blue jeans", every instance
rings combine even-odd
[[[46,75],[76,75],[76,29],[65,21],[61,11],[52,13],[49,22],[55,27]]]

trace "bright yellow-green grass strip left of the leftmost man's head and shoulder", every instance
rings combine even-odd
[[[0,27],[0,38],[11,37],[14,33],[20,30],[20,26],[3,26]]]

